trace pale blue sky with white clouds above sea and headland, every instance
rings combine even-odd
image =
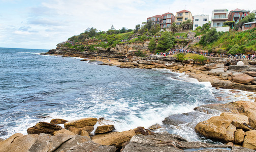
[[[236,0],[0,0],[0,47],[55,49],[88,27],[107,31],[134,29],[147,17],[188,10],[209,15],[213,9],[256,10],[256,1]]]

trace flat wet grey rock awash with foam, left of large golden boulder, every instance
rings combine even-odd
[[[192,112],[188,112],[188,113],[171,115],[171,116],[165,118],[163,123],[167,124],[167,125],[178,126],[180,124],[185,124],[185,123],[190,123],[190,122],[196,121],[196,120],[198,120],[198,118],[200,118],[200,119],[205,118],[205,120],[207,120],[208,117],[205,113],[192,111]]]

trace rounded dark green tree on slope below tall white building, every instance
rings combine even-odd
[[[218,37],[219,37],[219,34],[218,34],[216,28],[212,28],[205,35],[203,35],[201,37],[201,40],[199,41],[199,44],[207,45],[209,43],[217,41]]]

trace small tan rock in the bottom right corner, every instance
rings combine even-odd
[[[256,150],[256,130],[245,132],[243,147]]]

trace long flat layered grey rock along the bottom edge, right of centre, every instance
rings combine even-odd
[[[155,133],[154,135],[135,135],[122,152],[131,151],[236,151],[247,152],[251,149],[242,147],[230,147],[229,145],[217,145],[203,142],[188,142],[178,135],[169,133]]]

